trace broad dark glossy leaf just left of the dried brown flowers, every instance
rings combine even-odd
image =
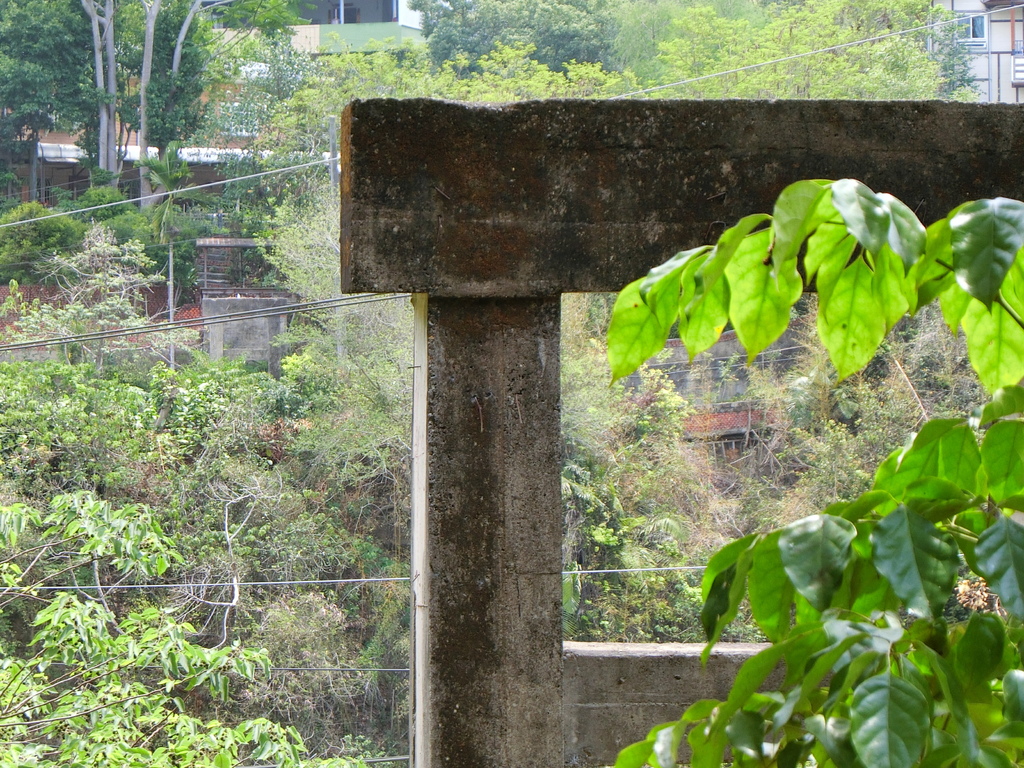
[[[959,565],[953,538],[901,506],[882,518],[871,544],[874,566],[906,609],[921,616],[940,615]]]

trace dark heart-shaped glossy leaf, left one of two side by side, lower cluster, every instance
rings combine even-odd
[[[786,575],[818,610],[828,607],[843,581],[856,536],[853,523],[831,515],[812,515],[782,528],[779,552]]]

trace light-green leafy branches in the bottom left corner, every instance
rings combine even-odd
[[[186,714],[190,692],[223,701],[232,679],[266,674],[265,654],[240,644],[202,647],[187,639],[190,626],[164,610],[118,613],[108,603],[100,573],[159,577],[181,559],[148,509],[56,497],[47,512],[0,508],[0,605],[9,614],[27,604],[35,633],[25,655],[0,664],[0,765],[300,764],[294,729]],[[41,543],[18,552],[23,538]],[[91,569],[86,590],[40,589],[59,587],[60,574],[76,569]]]

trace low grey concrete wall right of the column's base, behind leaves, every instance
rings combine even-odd
[[[701,668],[696,643],[565,643],[565,765],[611,765],[694,701],[725,699],[743,662],[765,647],[722,643]]]

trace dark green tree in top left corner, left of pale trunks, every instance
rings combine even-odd
[[[28,154],[29,198],[38,198],[39,139],[74,128],[89,97],[88,43],[72,0],[0,2],[0,156]]]

